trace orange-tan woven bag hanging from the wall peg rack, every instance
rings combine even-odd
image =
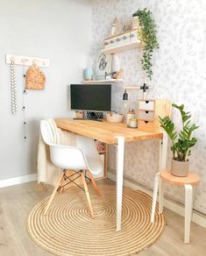
[[[26,89],[45,89],[45,82],[46,76],[36,64],[28,68],[25,77]]]

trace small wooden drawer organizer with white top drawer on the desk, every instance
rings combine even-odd
[[[172,103],[169,100],[139,100],[138,127],[139,130],[153,132],[160,131],[159,116],[171,115]]]

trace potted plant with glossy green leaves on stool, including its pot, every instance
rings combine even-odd
[[[173,152],[173,159],[171,174],[179,177],[186,177],[188,176],[189,169],[188,156],[191,153],[190,148],[195,146],[197,142],[197,139],[192,136],[192,133],[198,126],[191,122],[191,114],[184,111],[184,105],[178,106],[173,104],[173,107],[180,110],[181,113],[181,132],[177,132],[170,117],[159,117],[160,126],[167,132],[168,137],[172,140],[171,151]]]

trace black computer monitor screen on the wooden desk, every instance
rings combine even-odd
[[[72,110],[110,111],[110,84],[71,84]]]

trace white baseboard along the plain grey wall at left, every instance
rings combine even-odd
[[[37,181],[37,174],[28,174],[0,181],[0,188],[11,187],[25,182]]]

